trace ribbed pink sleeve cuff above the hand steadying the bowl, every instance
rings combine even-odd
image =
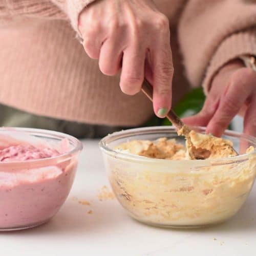
[[[218,71],[230,60],[243,54],[256,55],[256,28],[238,32],[224,39],[212,56],[203,80],[205,94],[210,90],[211,82]]]

